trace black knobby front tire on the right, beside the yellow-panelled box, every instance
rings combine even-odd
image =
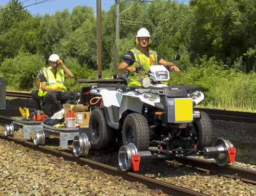
[[[205,112],[201,112],[201,119],[196,121],[195,126],[198,132],[197,148],[202,150],[204,147],[211,146],[213,126]]]

